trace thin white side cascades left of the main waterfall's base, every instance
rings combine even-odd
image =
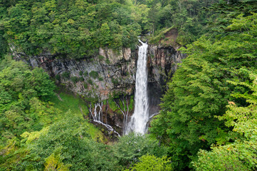
[[[117,133],[110,125],[103,123],[103,102],[95,103],[95,107],[92,109],[92,105],[90,105],[89,111],[90,115],[93,117],[93,121],[95,123],[99,123],[104,125],[107,130],[112,131],[113,133],[117,134],[120,137],[120,134]]]

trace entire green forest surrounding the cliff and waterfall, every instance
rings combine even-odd
[[[0,170],[257,170],[257,1],[0,0],[0,14]],[[145,135],[108,136],[95,99],[26,62],[173,46],[171,29],[187,58]]]

